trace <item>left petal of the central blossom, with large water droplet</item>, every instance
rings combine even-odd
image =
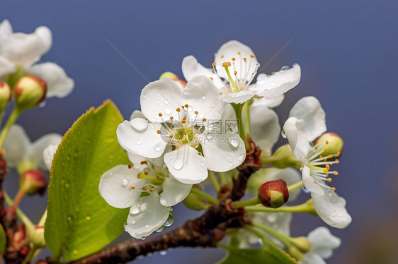
[[[119,124],[116,135],[125,150],[152,159],[159,157],[166,148],[166,142],[157,133],[160,126],[142,118],[125,120]]]

